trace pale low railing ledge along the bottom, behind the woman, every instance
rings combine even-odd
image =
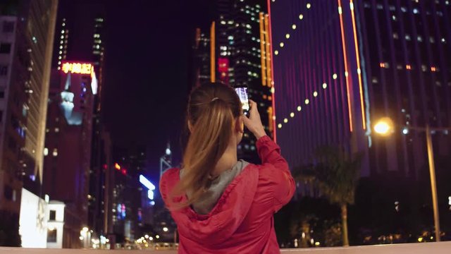
[[[0,247],[0,253],[8,254],[98,254],[109,252],[111,254],[136,253],[147,254],[175,254],[176,250],[76,250],[76,249],[34,249],[34,248],[8,248]],[[451,241],[439,243],[403,243],[379,246],[352,246],[336,248],[295,248],[283,249],[282,254],[450,254]]]

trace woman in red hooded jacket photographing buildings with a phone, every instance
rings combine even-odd
[[[273,214],[290,201],[295,182],[250,104],[247,118],[231,87],[211,83],[191,92],[183,169],[169,169],[160,181],[178,226],[178,253],[280,253]],[[261,165],[237,160],[244,126],[257,138]]]

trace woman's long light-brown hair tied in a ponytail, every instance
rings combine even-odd
[[[190,136],[183,154],[184,173],[172,191],[172,196],[190,195],[186,203],[172,209],[191,205],[209,188],[211,172],[226,152],[240,114],[241,102],[232,87],[207,83],[192,90],[187,107]]]

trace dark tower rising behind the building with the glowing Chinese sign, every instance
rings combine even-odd
[[[81,18],[82,17],[82,18]],[[53,66],[63,68],[68,60],[92,63],[97,78],[97,94],[93,95],[92,152],[89,169],[88,227],[99,235],[111,231],[111,139],[101,119],[101,92],[104,84],[105,53],[104,6],[99,1],[61,0],[54,44]],[[80,38],[82,38],[80,40]],[[110,229],[110,230],[109,230]]]

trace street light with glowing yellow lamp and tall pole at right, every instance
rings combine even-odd
[[[391,133],[393,133],[393,129],[393,121],[388,117],[384,117],[379,121],[376,121],[376,124],[374,125],[374,131],[380,135],[390,135]],[[424,131],[426,133],[426,148],[428,150],[429,175],[431,176],[432,205],[434,211],[435,241],[440,241],[440,218],[438,215],[437,183],[435,182],[435,164],[431,131],[451,131],[451,128],[431,128],[427,124],[426,127],[404,127],[402,129],[402,133],[409,133],[409,129],[415,131]]]

